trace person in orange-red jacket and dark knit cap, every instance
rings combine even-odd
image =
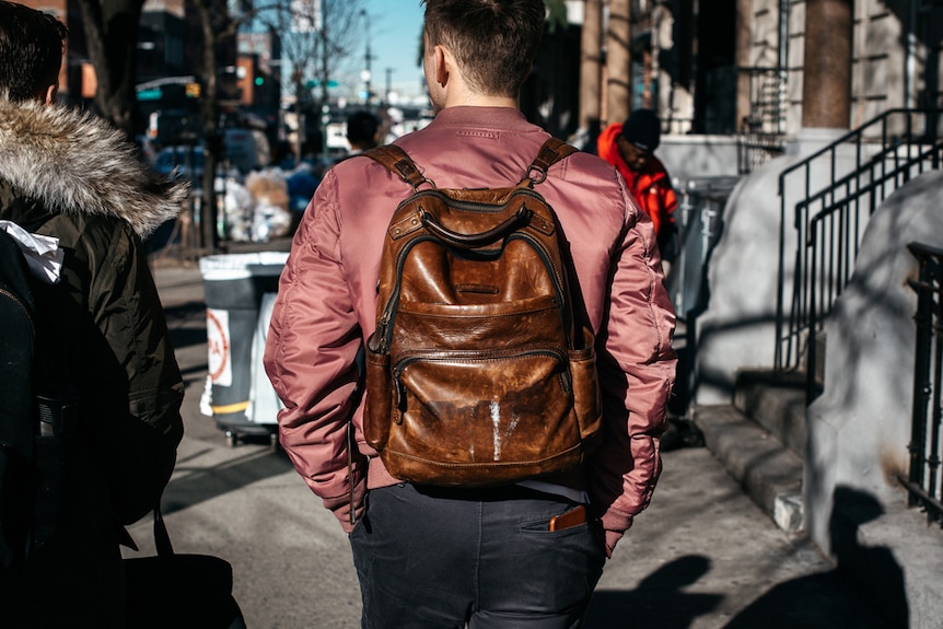
[[[671,177],[654,151],[661,141],[661,123],[651,109],[636,109],[625,123],[613,123],[597,140],[598,155],[613,164],[639,206],[652,219],[662,259],[677,255],[674,241],[678,198]]]

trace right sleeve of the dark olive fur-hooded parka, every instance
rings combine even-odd
[[[114,224],[114,223],[113,223]],[[86,223],[90,325],[83,403],[118,519],[148,513],[171,478],[184,428],[183,378],[143,247],[131,229]],[[102,253],[104,252],[104,253]]]

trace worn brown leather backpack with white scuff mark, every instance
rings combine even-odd
[[[366,347],[365,438],[394,477],[477,487],[583,459],[599,427],[594,339],[534,190],[574,151],[551,138],[516,186],[493,189],[436,188],[396,145],[364,153],[412,186],[386,232]]]

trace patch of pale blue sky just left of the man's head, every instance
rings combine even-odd
[[[363,0],[363,4],[370,18],[371,91],[386,92],[389,68],[393,91],[409,97],[424,95],[422,68],[417,66],[423,13],[419,0]],[[365,65],[365,51],[362,43],[354,54],[359,70]]]

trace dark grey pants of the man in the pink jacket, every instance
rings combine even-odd
[[[372,490],[350,534],[362,627],[580,627],[606,556],[594,524],[548,531],[574,506],[520,487]]]

